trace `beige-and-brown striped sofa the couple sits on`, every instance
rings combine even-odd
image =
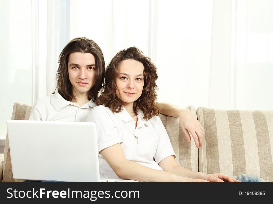
[[[273,181],[273,110],[219,110],[186,107],[204,127],[203,144],[187,143],[179,118],[159,115],[179,165],[206,174],[256,174]],[[11,119],[28,120],[31,106],[15,103]],[[1,159],[2,158],[2,159]],[[0,154],[0,181],[13,179],[8,137]]]

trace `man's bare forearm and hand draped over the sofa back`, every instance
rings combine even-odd
[[[204,128],[188,109],[180,108],[170,103],[157,103],[161,109],[160,113],[166,116],[179,117],[181,127],[190,142],[192,135],[195,145],[199,148],[202,145]],[[189,134],[190,132],[190,134]]]

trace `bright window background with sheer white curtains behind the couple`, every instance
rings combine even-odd
[[[136,46],[158,68],[158,101],[273,109],[271,0],[0,0],[0,139],[13,103],[55,89],[62,48],[93,39],[106,65]]]

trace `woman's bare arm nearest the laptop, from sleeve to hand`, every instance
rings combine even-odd
[[[120,143],[107,147],[100,153],[120,178],[148,182],[207,182],[202,179],[186,178],[167,171],[154,170],[129,161],[125,158]]]

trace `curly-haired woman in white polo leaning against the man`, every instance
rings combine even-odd
[[[167,71],[167,70],[166,70]],[[105,86],[87,121],[97,125],[100,176],[116,181],[239,182],[177,165],[157,116],[156,67],[136,47],[121,50],[107,66]]]

